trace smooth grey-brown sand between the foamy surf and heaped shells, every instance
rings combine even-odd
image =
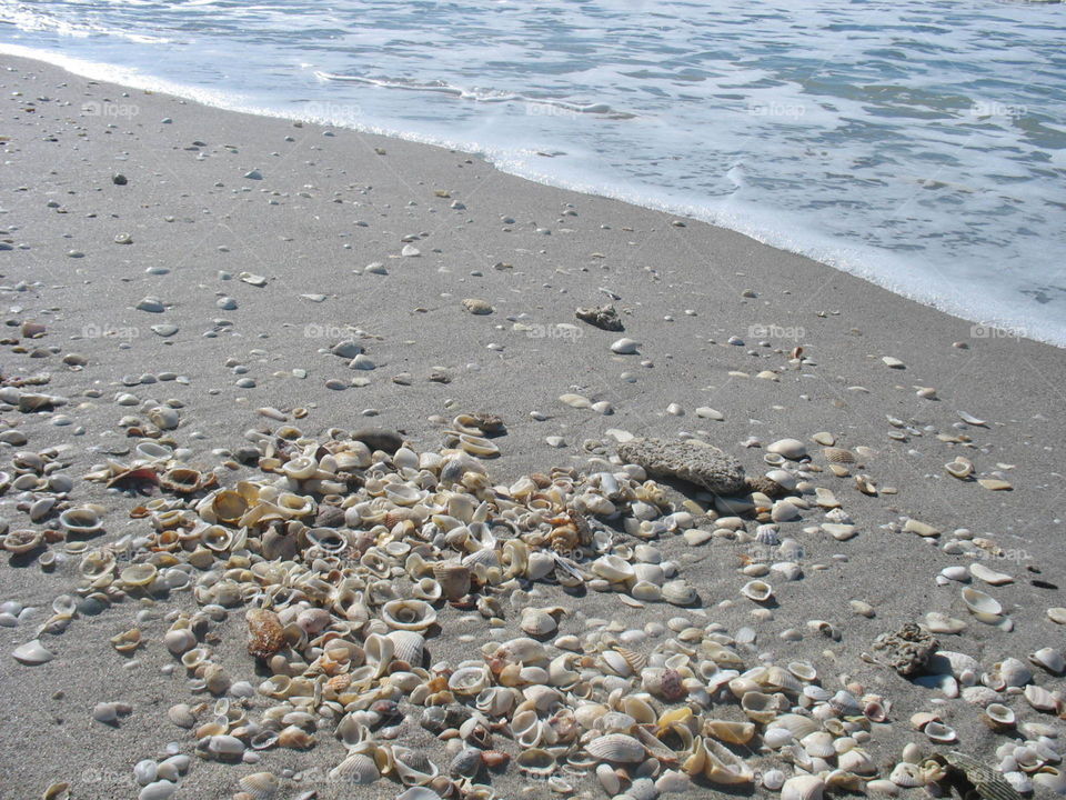
[[[454,444],[449,431],[464,413],[502,419],[505,431],[490,439],[499,454],[481,461],[503,491],[553,468],[603,472],[613,458],[621,470],[617,446],[633,437],[704,441],[738,460],[750,479],[778,468],[766,460],[772,443],[798,440],[802,452],[777,460],[801,488],[788,493],[795,503],[774,498],[773,512],[742,513],[738,536],[718,521],[734,516],[727,501],[664,481],[668,507],[655,514],[692,517],[646,544],[676,564],[677,578],[698,592],[695,602],[633,604],[616,588],[565,591],[536,581],[523,586],[521,601],[501,594],[502,622],[492,627],[477,610],[441,600],[432,603],[428,668],[454,669],[481,659],[485,642],[521,636],[521,606],[562,609],[557,632],[546,637],[553,654],[556,636],[646,626],[652,632],[633,637],[633,649],[663,652],[684,629],[674,622],[681,618],[740,637],[741,671],[806,661],[831,694],[849,688],[882,697],[884,721],[859,737],[873,764],[863,781],[887,779],[911,742],[925,754],[958,750],[989,764],[1003,758],[997,748],[1034,740],[1033,731],[1058,742],[1063,679],[1028,656],[1066,648],[1066,628],[1048,616],[1066,606],[1056,456],[1066,434],[1063,350],[727,230],[540,186],[464,153],[222,111],[23,59],[0,62],[0,391],[8,392],[0,394],[0,469],[9,477],[0,519],[9,531],[50,530],[46,539],[54,540],[4,552],[0,564],[2,800],[38,798],[61,782],[78,800],[137,798],[134,764],[179,753],[190,757],[188,769],[172,794],[153,797],[230,798],[239,779],[264,771],[278,777],[278,798],[400,794],[394,777],[369,786],[329,777],[345,750],[325,716],[309,723],[313,747],[249,747],[243,761],[198,754],[193,731],[168,717],[173,706],[205,703],[200,726],[220,697],[254,721],[278,701],[195,691],[195,676],[163,643],[178,613],[198,611],[194,593],[133,589],[95,608],[84,598],[90,590],[79,593],[84,552],[69,546],[113,546],[120,569],[143,562],[152,551],[145,546],[139,556],[137,544],[153,527],[131,511],[160,497],[193,507],[213,488],[137,496],[86,479],[109,461],[129,466],[144,441],[169,442],[184,464],[214,470],[220,486],[233,488],[272,479],[247,449],[258,444],[270,457],[263,448],[284,426],[319,442],[333,429],[383,428],[425,453]],[[580,307],[605,304],[624,330],[575,317]],[[341,342],[350,344],[338,349]],[[31,399],[20,406],[22,396]],[[834,462],[825,447],[852,460]],[[34,467],[41,453],[47,468]],[[972,463],[973,474],[953,477],[947,463],[962,473]],[[26,473],[41,482],[20,483]],[[41,506],[41,498],[54,502]],[[64,537],[59,514],[87,504],[102,529]],[[843,512],[832,512],[834,504]],[[625,552],[642,543],[622,523],[631,513],[620,508],[597,522]],[[777,543],[753,539],[766,523],[776,526]],[[777,551],[786,539],[800,548],[788,557]],[[780,562],[796,569],[752,568]],[[997,584],[972,574],[973,564],[999,574]],[[945,569],[965,582],[942,576]],[[741,594],[755,579],[772,584],[772,602]],[[410,581],[396,588],[410,592]],[[1002,606],[995,624],[967,609],[964,589]],[[69,618],[62,596],[79,608]],[[878,636],[927,623],[931,612],[965,623],[935,634],[939,650],[979,663],[956,676],[954,691],[939,678],[907,680],[875,658]],[[111,638],[133,628],[141,644],[117,652]],[[270,677],[247,650],[242,603],[200,639],[233,683],[258,688]],[[11,656],[33,640],[53,658],[31,666]],[[1034,708],[1024,684],[989,689],[1008,657],[1030,666],[1029,684],[1052,692],[1050,711]],[[994,697],[967,696],[983,676]],[[637,678],[631,691],[638,689]],[[703,713],[744,720],[730,690],[722,692]],[[983,722],[990,701],[1012,709],[1016,726],[997,731]],[[129,710],[114,722],[95,720],[94,708],[108,702]],[[698,704],[656,700],[655,708],[685,702]],[[923,712],[953,729],[954,740],[916,730],[913,717]],[[399,714],[389,741],[424,750],[446,772],[453,753],[420,724],[422,709],[401,699]],[[1027,732],[1027,723],[1048,729]],[[513,762],[522,748],[503,729],[493,738],[491,749]],[[735,751],[758,774],[797,772],[757,738]],[[592,768],[555,777],[570,790],[514,763],[474,782],[501,798],[606,797]],[[1037,797],[1052,792],[1036,783]],[[758,781],[727,787],[701,777],[677,796],[711,788],[776,793]]]

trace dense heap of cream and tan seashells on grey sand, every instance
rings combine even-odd
[[[220,486],[221,473],[178,463],[165,451],[102,464],[88,476],[164,490],[131,511],[143,534],[74,550],[82,576],[77,593],[103,603],[191,593],[199,610],[172,612],[162,643],[187,671],[190,689],[217,698],[169,712],[194,737],[198,756],[240,761],[251,751],[306,750],[335,737],[346,756],[331,780],[393,781],[406,787],[405,800],[496,797],[492,774],[507,768],[562,796],[587,778],[626,799],[693,783],[760,784],[785,800],[819,800],[833,789],[891,796],[949,777],[948,762],[913,744],[885,770],[871,744],[889,714],[888,700],[846,677],[839,688],[823,686],[805,661],[756,658],[744,647],[751,638],[723,626],[674,617],[658,630],[645,628],[654,636],[633,637],[606,622],[582,637],[559,634],[571,609],[537,603],[539,583],[570,593],[616,592],[637,609],[696,603],[696,588],[652,540],[698,532],[707,518],[691,500],[675,506],[641,467],[603,459],[583,473],[555,469],[494,486],[471,454],[487,456],[491,448],[467,432],[470,420],[455,427],[464,422],[455,448],[440,452],[406,444],[375,450],[336,430],[316,441],[281,429],[260,442],[261,477],[232,488]],[[777,469],[765,480],[774,493],[802,491],[796,473],[772,466]],[[746,504],[744,512],[763,524],[750,534],[738,517],[721,517],[713,536],[786,552],[793,540],[782,541],[772,521],[784,504],[783,518],[816,507],[833,520],[826,527],[852,527],[832,492],[809,493],[814,503],[803,497],[775,502],[757,491],[743,500],[718,498],[721,512]],[[83,509],[64,514],[68,529],[94,524]],[[848,538],[835,528],[827,532]],[[756,611],[773,597],[771,583],[758,579],[770,571],[757,561],[742,570],[751,580],[740,596]],[[773,571],[792,580],[798,567],[781,562]],[[975,614],[1002,621],[992,598],[968,591]],[[242,609],[248,630],[248,669],[238,677],[209,643],[229,609]],[[69,623],[74,598],[57,599],[54,611],[42,630]],[[490,634],[480,649],[471,643],[466,660],[435,660],[434,640],[460,619],[480,619],[491,631],[512,620],[523,636]],[[828,622],[814,620],[812,628],[838,636]],[[141,632],[121,633],[112,644],[132,652]],[[16,657],[37,663],[50,653],[34,641]],[[1034,709],[1063,710],[1062,697],[1036,684],[1025,663],[1008,659],[982,673],[967,659],[924,653],[922,666],[933,664],[942,689],[954,681],[956,696],[959,687],[985,690],[994,729],[1015,727],[1014,712],[998,702],[1007,687]],[[1034,653],[1033,663],[1066,669],[1050,648]],[[257,694],[265,707],[251,701]],[[110,711],[100,713],[112,719]],[[444,742],[440,752],[394,741],[398,720],[411,717]],[[955,741],[935,714],[911,721],[934,744]],[[1003,771],[1019,776],[1022,789],[1026,781],[1058,780],[1056,740],[1048,727],[1029,724],[1029,739],[1002,756]],[[757,762],[746,758],[756,752]],[[241,779],[235,797],[275,789],[271,773],[254,773]]]

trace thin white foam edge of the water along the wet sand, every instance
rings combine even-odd
[[[1066,349],[1066,339],[1062,339],[1060,343],[1056,343],[1056,332],[1053,330],[1046,330],[1046,322],[1042,322],[1034,329],[1032,323],[1012,324],[1005,322],[1004,318],[999,313],[994,314],[992,318],[985,318],[971,308],[971,304],[961,302],[949,297],[949,288],[947,286],[939,287],[939,289],[935,292],[928,290],[927,288],[914,289],[911,287],[901,286],[898,277],[894,278],[892,276],[898,276],[898,271],[905,269],[906,264],[902,260],[896,264],[896,269],[889,270],[886,274],[881,274],[884,269],[883,267],[871,266],[879,264],[885,259],[892,260],[893,256],[888,253],[883,253],[877,250],[869,252],[857,252],[849,248],[849,246],[847,246],[845,242],[833,239],[824,239],[817,243],[808,242],[804,249],[809,254],[805,254],[798,250],[790,250],[786,247],[775,244],[773,243],[773,240],[775,238],[780,239],[782,234],[780,231],[767,232],[765,222],[758,221],[764,220],[766,214],[758,209],[748,209],[744,214],[747,221],[743,223],[737,222],[731,227],[721,221],[708,219],[708,212],[706,211],[701,211],[688,203],[674,201],[665,197],[647,203],[635,203],[634,201],[626,199],[624,197],[624,191],[620,189],[611,187],[602,187],[596,189],[594,187],[584,184],[566,186],[565,181],[555,179],[550,173],[540,173],[535,178],[530,178],[521,174],[520,172],[507,171],[503,167],[492,163],[491,160],[485,158],[483,152],[472,146],[464,148],[462,144],[434,141],[431,138],[421,134],[404,133],[396,130],[384,130],[378,126],[353,126],[350,121],[319,121],[309,117],[300,117],[295,111],[285,112],[284,110],[259,107],[241,108],[240,104],[233,104],[232,102],[229,102],[225,96],[222,96],[214,90],[197,89],[183,84],[175,84],[172,81],[164,79],[145,78],[140,76],[140,73],[138,73],[135,70],[128,68],[87,61],[79,58],[71,58],[56,52],[48,52],[47,56],[50,58],[47,59],[42,57],[46,53],[36,53],[32,48],[27,48],[24,46],[0,46],[0,54],[8,57],[9,53],[11,53],[10,57],[12,58],[24,58],[31,61],[39,61],[41,63],[47,63],[57,69],[88,78],[90,80],[99,80],[105,83],[112,83],[137,91],[169,94],[171,97],[181,98],[185,101],[201,103],[209,108],[215,108],[233,113],[288,121],[301,121],[306,124],[315,124],[323,128],[336,128],[340,130],[354,131],[365,136],[383,137],[389,140],[408,141],[415,144],[424,144],[426,147],[466,153],[467,156],[479,160],[486,160],[494,169],[521,180],[540,183],[541,186],[545,186],[551,189],[557,189],[560,191],[574,192],[581,196],[600,197],[626,204],[634,204],[637,208],[666,216],[680,216],[684,219],[698,221],[703,224],[710,224],[714,228],[730,230],[775,250],[781,250],[782,252],[787,252],[793,256],[798,256],[800,258],[806,258],[819,263],[824,263],[825,266],[832,267],[834,270],[859,278],[861,280],[872,283],[878,288],[886,289],[898,297],[912,300],[927,308],[935,309],[951,317],[967,321],[975,330],[983,331],[983,333],[979,333],[978,336],[983,336],[985,338],[1027,338],[1038,343],[1050,344],[1052,347]],[[117,76],[114,74],[115,72],[118,73]],[[794,224],[802,224],[802,220],[795,221]],[[812,250],[815,252],[811,253]],[[826,253],[827,257],[823,259],[821,256],[822,253]],[[927,266],[926,269],[935,271],[935,268],[932,266]],[[935,282],[935,279],[931,278],[929,280],[934,280]],[[1022,310],[1022,306],[1018,306],[1017,301],[1014,302],[1015,306],[1012,307],[1012,316],[1015,311],[1020,312]],[[980,317],[980,319],[978,319],[978,317]],[[1063,331],[1058,331],[1057,334],[1059,337],[1066,337],[1066,333]]]

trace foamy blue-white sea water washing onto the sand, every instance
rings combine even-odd
[[[0,0],[0,52],[477,152],[1066,346],[1066,4]]]

